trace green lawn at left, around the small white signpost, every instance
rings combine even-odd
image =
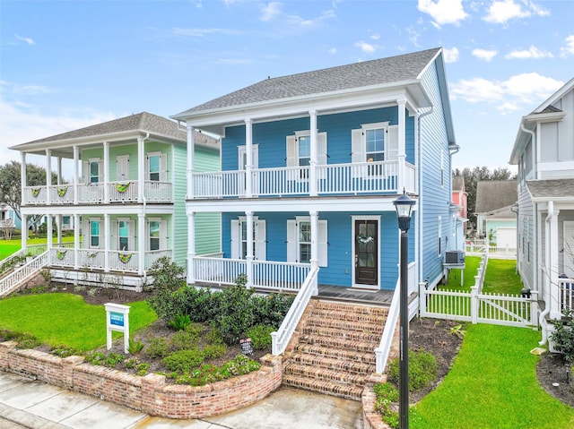
[[[157,319],[144,301],[129,305],[130,332]],[[74,294],[13,296],[0,300],[0,328],[29,332],[50,346],[91,350],[106,344],[106,310]]]

